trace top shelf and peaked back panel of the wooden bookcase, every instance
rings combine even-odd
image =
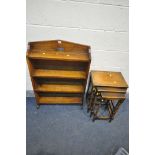
[[[29,42],[27,56],[31,59],[90,61],[90,46],[63,40]]]

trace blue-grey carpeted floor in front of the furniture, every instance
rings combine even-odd
[[[80,106],[44,105],[27,98],[27,155],[114,155],[129,150],[129,100],[115,119],[92,122]]]

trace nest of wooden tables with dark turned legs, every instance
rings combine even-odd
[[[93,121],[113,120],[125,100],[127,88],[128,85],[120,72],[92,71],[87,91],[87,111],[90,111],[90,116],[93,115]],[[108,116],[99,116],[102,105],[108,109]]]

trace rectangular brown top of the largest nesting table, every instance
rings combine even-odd
[[[94,86],[128,88],[121,72],[91,71],[91,78]]]

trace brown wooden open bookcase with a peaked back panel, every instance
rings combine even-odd
[[[41,104],[81,104],[91,56],[90,46],[63,40],[30,42],[27,64],[37,108]]]

